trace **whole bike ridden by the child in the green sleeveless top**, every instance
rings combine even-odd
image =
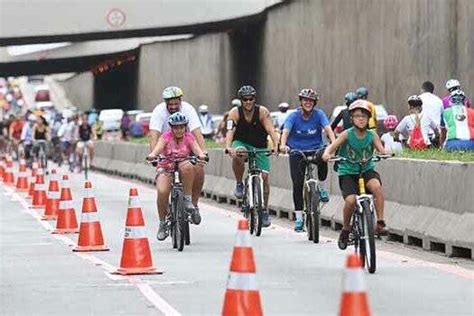
[[[356,207],[352,212],[351,233],[348,245],[354,245],[355,252],[359,254],[362,265],[367,266],[369,273],[376,270],[375,253],[375,206],[372,194],[365,190],[363,177],[364,165],[370,161],[379,162],[392,155],[374,155],[368,159],[353,161],[344,157],[333,157],[330,161],[347,161],[359,167],[359,192],[356,197]]]

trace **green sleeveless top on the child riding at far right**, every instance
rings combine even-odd
[[[363,138],[358,138],[354,127],[347,130],[347,141],[344,142],[339,149],[339,156],[359,161],[368,159],[374,155],[374,131],[367,130]],[[374,169],[375,163],[370,161],[362,168],[362,173]],[[348,161],[341,161],[338,166],[337,173],[340,176],[349,174],[359,174],[359,165]]]

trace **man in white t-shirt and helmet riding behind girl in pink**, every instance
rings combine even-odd
[[[199,147],[207,153],[206,143],[204,142],[204,137],[201,133],[201,124],[199,123],[198,114],[191,104],[182,101],[183,91],[178,87],[167,87],[163,90],[161,96],[164,101],[155,107],[150,119],[150,131],[148,133],[150,150],[153,150],[156,147],[161,135],[171,129],[168,124],[168,118],[170,115],[176,112],[181,112],[188,119],[187,131],[194,135]],[[199,213],[198,201],[201,197],[203,184],[204,167],[202,164],[196,164],[194,166],[192,198],[197,213]]]

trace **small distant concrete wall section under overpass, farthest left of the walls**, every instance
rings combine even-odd
[[[92,72],[76,74],[68,79],[56,81],[65,91],[71,104],[78,109],[89,110],[94,105],[94,76]]]

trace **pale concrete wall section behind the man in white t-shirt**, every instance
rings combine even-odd
[[[138,104],[148,111],[160,102],[170,85],[183,89],[184,99],[210,111],[221,112],[235,94],[227,33],[213,33],[190,40],[160,42],[140,49]],[[223,109],[222,109],[223,110]]]

